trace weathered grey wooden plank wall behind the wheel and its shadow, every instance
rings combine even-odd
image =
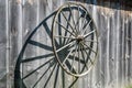
[[[0,88],[13,88],[13,70],[25,38],[65,1],[67,0],[0,0]],[[85,6],[99,32],[99,57],[96,67],[80,78],[74,88],[124,88],[124,85],[132,82],[132,12],[121,10],[120,6],[111,9],[95,6],[96,0],[86,1],[88,3]],[[41,41],[43,33],[34,35],[34,38]],[[36,47],[28,50],[32,52],[26,52],[25,56],[42,53]],[[65,86],[69,82],[70,80],[65,80]]]

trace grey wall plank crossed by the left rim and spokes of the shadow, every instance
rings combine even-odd
[[[23,0],[23,41],[26,40],[29,34],[36,28],[38,24],[38,1],[37,0]],[[38,34],[34,34],[32,38],[33,41],[38,40]],[[38,55],[38,47],[35,45],[26,46],[26,51],[24,53],[24,57],[35,57]],[[29,73],[38,67],[40,62],[31,62],[23,65],[23,73]],[[26,78],[24,81],[28,87],[32,87],[34,82],[38,78],[38,73],[35,72],[32,76]]]

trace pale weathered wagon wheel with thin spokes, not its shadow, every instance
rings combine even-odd
[[[95,66],[97,29],[84,4],[68,2],[58,9],[52,25],[52,45],[57,62],[69,75],[87,75]]]

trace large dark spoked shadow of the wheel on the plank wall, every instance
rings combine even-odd
[[[45,38],[51,42],[51,25],[48,22],[55,14],[56,11],[46,16],[43,22],[29,34],[15,64],[14,88],[72,88],[77,81],[78,78],[69,75],[67,77],[72,78],[72,81],[65,85],[66,79],[64,74],[66,73],[63,72],[56,62],[52,44],[45,41],[41,42],[37,38],[35,40],[37,34],[44,33],[42,40]],[[45,37],[46,35],[47,37]],[[59,43],[56,44],[59,45]],[[38,48],[37,51],[41,50],[44,53],[42,52],[43,54],[41,55],[30,56],[30,53],[34,52],[32,48]],[[40,62],[38,65],[36,65],[37,62]]]

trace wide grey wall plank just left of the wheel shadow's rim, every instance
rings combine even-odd
[[[18,58],[18,55],[22,48],[22,3],[21,3],[21,0],[8,0],[8,11],[9,11],[9,14],[8,14],[8,31],[9,31],[9,34],[8,34],[8,40],[9,40],[9,59],[10,59],[10,63],[9,63],[9,66],[10,66],[10,84],[8,85],[11,85],[11,87],[13,87],[13,77],[14,77],[14,67],[15,67],[15,62],[16,62],[16,58]]]

